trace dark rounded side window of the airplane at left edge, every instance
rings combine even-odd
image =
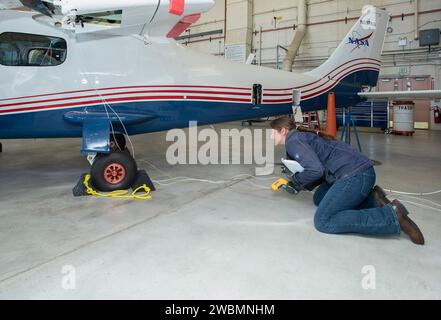
[[[58,66],[66,60],[66,40],[28,33],[0,34],[0,64],[17,67]]]

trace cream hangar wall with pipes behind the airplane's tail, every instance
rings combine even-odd
[[[306,36],[294,63],[298,72],[310,70],[331,55],[358,18],[366,0],[308,0]],[[393,16],[383,52],[382,75],[430,75],[435,88],[441,88],[441,47],[420,48],[415,40],[415,0],[371,0]],[[441,28],[441,2],[419,1],[419,27]],[[225,19],[226,18],[226,19]],[[346,21],[347,18],[347,21]],[[225,23],[226,20],[226,23]],[[184,36],[218,31],[207,36],[180,40],[191,48],[213,55],[224,55],[225,45],[243,44],[246,54],[254,52],[263,66],[282,66],[285,51],[297,23],[297,0],[216,0],[215,7],[204,14]],[[226,39],[222,30],[226,25]],[[226,41],[225,41],[226,40]],[[406,44],[399,45],[399,40]],[[278,52],[278,53],[277,53]]]

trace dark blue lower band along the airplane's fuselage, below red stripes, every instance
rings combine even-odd
[[[363,70],[347,76],[332,91],[338,107],[354,106],[362,99],[357,95],[361,85],[375,85],[378,71]],[[130,135],[188,127],[189,121],[200,125],[277,116],[292,112],[291,104],[252,104],[205,101],[148,101],[112,104],[116,112],[142,112],[156,119],[127,127]],[[302,102],[303,111],[326,109],[327,93]],[[103,106],[59,109],[0,116],[0,139],[81,137],[82,127],[64,119],[72,110],[102,111]],[[109,110],[109,112],[111,112]],[[118,125],[115,130],[123,132]]]

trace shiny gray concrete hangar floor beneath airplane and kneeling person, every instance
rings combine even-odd
[[[311,194],[247,182],[159,187],[149,202],[74,198],[71,189],[88,170],[79,140],[2,142],[1,299],[441,298],[441,206],[429,202],[440,204],[440,194],[402,198],[418,203],[407,205],[425,234],[421,247],[405,235],[321,234]],[[140,167],[157,179],[253,173],[245,165],[170,166],[164,133],[134,142]],[[441,189],[440,134],[363,133],[362,142],[383,162],[380,185]],[[366,265],[375,267],[374,290],[361,285]],[[65,266],[75,268],[74,290],[62,286]]]

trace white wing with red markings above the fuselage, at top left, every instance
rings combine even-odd
[[[175,38],[214,0],[0,0],[0,9],[28,7],[76,34]]]

